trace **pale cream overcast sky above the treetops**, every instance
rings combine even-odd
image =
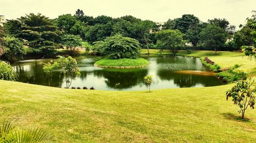
[[[230,24],[238,26],[256,10],[256,0],[0,0],[0,15],[5,15],[6,19],[38,12],[56,18],[61,14],[73,15],[77,9],[94,17],[133,15],[155,22],[194,14],[201,21],[226,18]]]

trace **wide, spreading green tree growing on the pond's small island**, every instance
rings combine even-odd
[[[134,59],[140,54],[140,45],[136,39],[116,34],[104,39],[102,54],[110,56],[112,59],[124,57]]]

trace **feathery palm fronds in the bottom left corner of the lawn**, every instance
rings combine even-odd
[[[53,136],[45,130],[35,129],[20,129],[17,127],[17,120],[4,121],[0,125],[0,143],[18,143],[18,142],[53,142]]]

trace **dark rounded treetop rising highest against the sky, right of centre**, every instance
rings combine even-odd
[[[199,24],[200,20],[193,14],[184,14],[181,18],[177,18],[175,21],[174,29],[179,30],[181,33],[185,34],[190,26]]]

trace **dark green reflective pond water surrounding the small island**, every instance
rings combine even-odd
[[[211,87],[223,84],[216,75],[202,65],[199,58],[171,55],[142,55],[150,65],[136,69],[112,69],[94,67],[99,58],[95,56],[77,56],[81,76],[77,77],[70,88],[91,88],[96,90],[148,90],[144,76],[153,75],[151,89]],[[21,82],[48,85],[48,78],[42,71],[47,62],[57,59],[26,60],[14,63],[13,69],[19,74]],[[203,71],[203,72],[200,72]],[[206,73],[206,74],[205,74]],[[60,71],[50,78],[52,87],[65,88],[66,82]]]

